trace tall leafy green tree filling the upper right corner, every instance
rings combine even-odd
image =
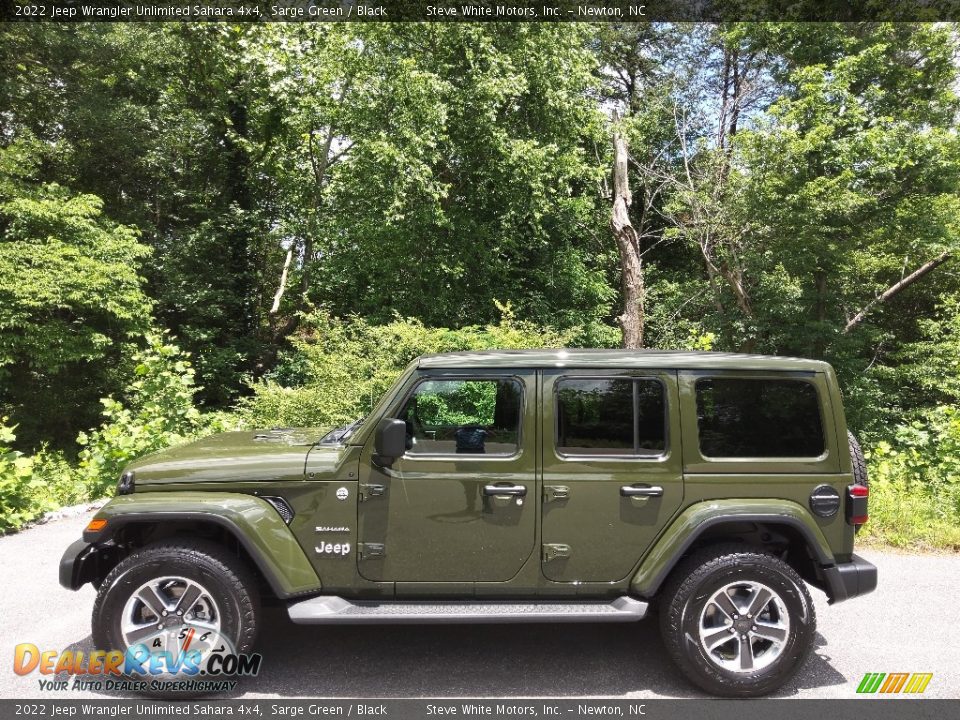
[[[763,218],[750,237],[754,282],[780,276],[763,283],[760,342],[840,357],[861,352],[867,318],[881,320],[956,247],[955,42],[924,25],[824,26],[804,28],[796,50],[793,31],[773,46],[784,92],[735,149],[740,211]],[[907,320],[891,317],[874,338]],[[798,325],[790,340],[777,329]]]

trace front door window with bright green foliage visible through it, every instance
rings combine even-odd
[[[523,391],[511,379],[427,380],[398,417],[411,455],[512,455],[520,438]]]

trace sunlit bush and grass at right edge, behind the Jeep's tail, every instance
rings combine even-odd
[[[960,411],[941,406],[894,430],[868,455],[864,537],[918,549],[960,550]]]

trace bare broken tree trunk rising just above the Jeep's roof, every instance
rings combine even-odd
[[[643,347],[644,296],[643,259],[640,257],[637,231],[630,222],[630,195],[627,141],[619,128],[619,116],[613,116],[613,211],[610,229],[620,254],[623,313],[617,318],[623,331],[623,347]]]

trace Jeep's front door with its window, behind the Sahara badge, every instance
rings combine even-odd
[[[513,578],[536,542],[536,374],[416,376],[388,417],[406,453],[360,461],[360,574],[378,582]],[[398,593],[415,588],[398,585]]]

